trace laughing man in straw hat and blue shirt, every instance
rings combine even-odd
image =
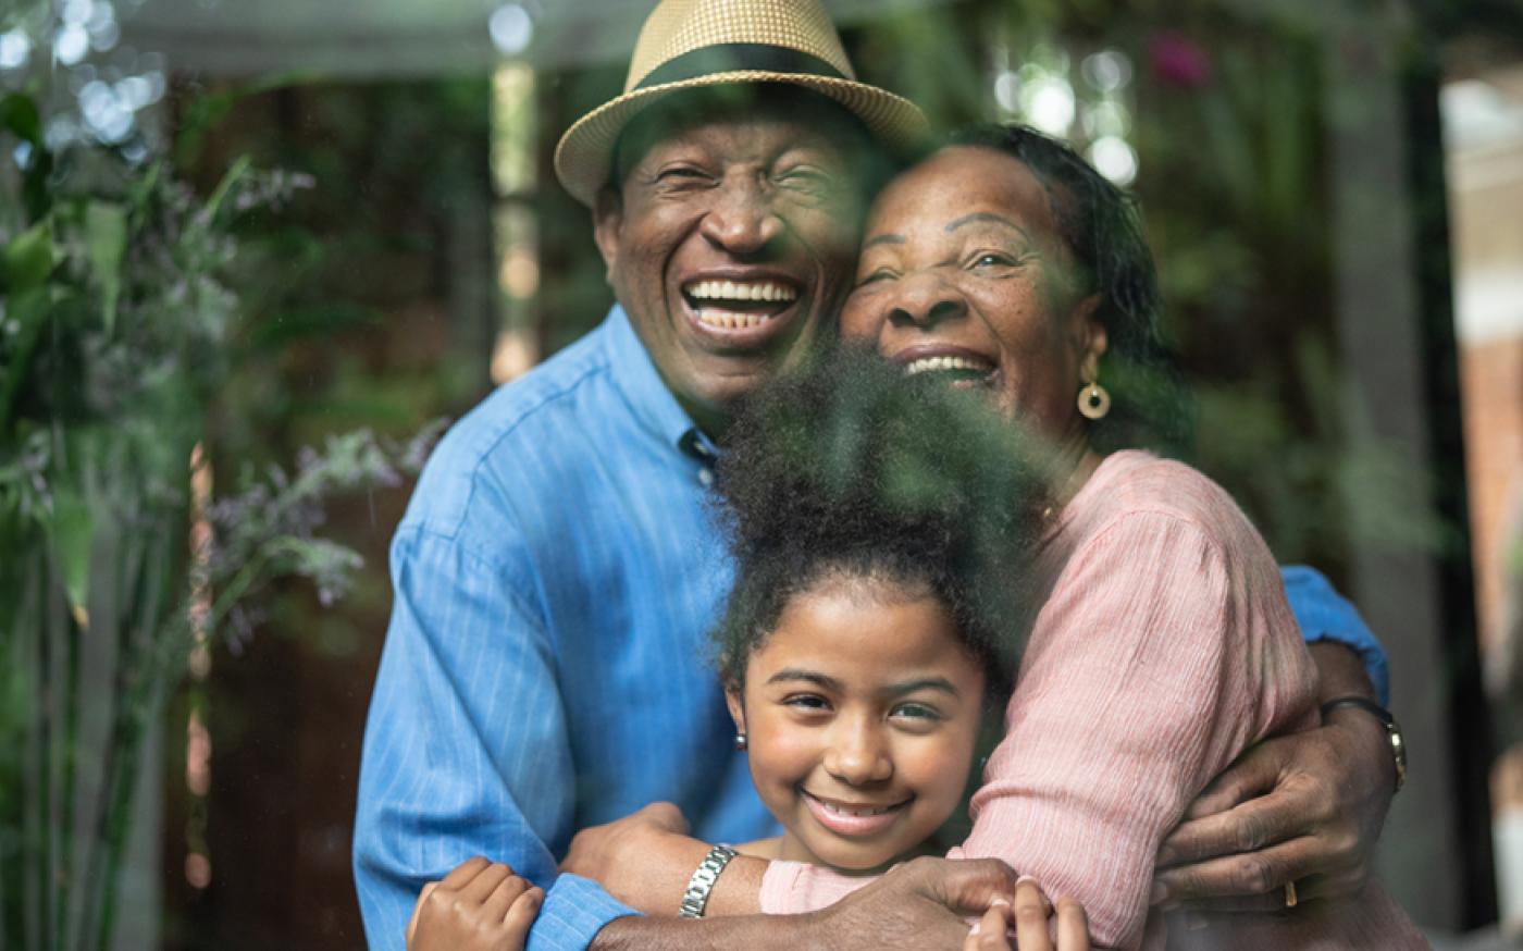
[[[372,946],[477,853],[545,887],[530,948],[961,946],[958,911],[1010,892],[1001,863],[928,860],[809,919],[684,928],[556,875],[579,829],[656,800],[711,843],[774,832],[702,661],[731,570],[713,440],[835,332],[870,169],[923,131],[816,0],[664,0],[624,93],[567,131],[617,305],[451,430],[398,527],[355,831]]]

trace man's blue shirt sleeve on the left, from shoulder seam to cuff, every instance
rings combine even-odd
[[[556,873],[576,776],[553,655],[500,565],[404,527],[394,602],[366,724],[355,882],[372,948],[404,946],[425,881],[472,855],[545,889],[530,951],[586,948],[634,914],[595,882]]]

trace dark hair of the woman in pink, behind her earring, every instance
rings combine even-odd
[[[1058,236],[1072,251],[1078,293],[1100,294],[1097,317],[1109,338],[1100,383],[1113,401],[1104,419],[1089,424],[1090,445],[1101,453],[1127,447],[1186,451],[1193,407],[1164,338],[1164,299],[1136,201],[1068,145],[1025,125],[969,125],[926,157],[953,146],[995,149],[1031,169],[1048,192]]]

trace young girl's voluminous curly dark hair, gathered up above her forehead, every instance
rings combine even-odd
[[[745,684],[792,597],[860,579],[938,597],[1002,709],[1034,616],[1027,562],[1046,491],[987,401],[833,347],[748,399],[717,474],[736,556],[714,631],[726,684]]]

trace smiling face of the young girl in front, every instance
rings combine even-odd
[[[961,802],[984,672],[920,585],[829,576],[795,594],[730,690],[751,776],[786,832],[777,858],[870,870]]]

